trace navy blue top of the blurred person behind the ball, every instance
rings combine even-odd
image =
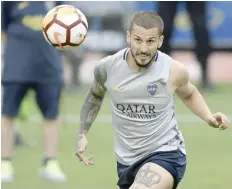
[[[3,1],[2,32],[6,32],[2,82],[63,83],[60,52],[42,33],[47,10],[43,1]]]

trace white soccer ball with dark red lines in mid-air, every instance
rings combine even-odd
[[[43,35],[47,42],[59,50],[79,46],[88,31],[85,15],[71,5],[51,9],[43,20]]]

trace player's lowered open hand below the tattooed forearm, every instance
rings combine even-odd
[[[88,140],[84,134],[78,135],[77,140],[77,152],[76,156],[83,161],[86,166],[93,165],[94,162],[91,160],[92,157],[86,157],[85,150],[87,148]]]

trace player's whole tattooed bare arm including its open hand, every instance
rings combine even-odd
[[[106,60],[107,58],[102,60],[101,63],[95,67],[94,82],[88,91],[81,109],[76,156],[86,166],[94,164],[90,157],[85,156],[85,150],[88,144],[86,134],[97,117],[106,93],[106,87],[104,85],[107,79]]]

